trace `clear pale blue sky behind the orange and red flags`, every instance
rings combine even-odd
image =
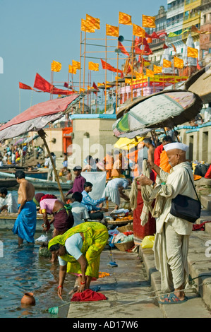
[[[33,87],[36,73],[50,82],[53,60],[62,65],[61,71],[54,73],[54,85],[64,88],[68,65],[73,59],[80,61],[80,23],[86,14],[100,18],[100,30],[87,33],[86,39],[87,44],[95,45],[87,45],[86,56],[99,59],[86,59],[85,81],[88,61],[93,61],[100,64],[100,71],[91,72],[91,83],[97,84],[105,78],[100,62],[100,57],[105,57],[105,48],[100,45],[105,45],[106,24],[117,26],[121,11],[131,15],[132,23],[141,26],[142,15],[155,16],[159,6],[167,8],[167,0],[0,0],[0,123],[16,117],[31,105],[49,100],[49,93],[19,89],[19,82]],[[119,35],[125,39],[123,46],[131,45],[132,25],[120,25]],[[113,43],[108,40],[107,46]],[[84,45],[81,47],[83,53]],[[114,48],[108,47],[108,50],[114,51]],[[107,58],[116,68],[116,53],[109,52]],[[119,69],[123,62],[120,56]],[[107,81],[114,79],[114,74],[107,71]],[[78,81],[76,74],[73,85],[78,85]]]

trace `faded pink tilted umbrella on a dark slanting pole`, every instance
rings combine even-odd
[[[40,104],[26,109],[23,113],[18,114],[16,117],[0,127],[0,142],[7,138],[13,138],[26,134],[29,131],[38,131],[38,134],[42,138],[44,146],[47,149],[49,158],[52,160],[56,182],[58,184],[59,191],[61,192],[61,197],[64,203],[66,203],[66,199],[61,190],[59,177],[57,175],[56,167],[54,166],[54,161],[52,159],[49,147],[45,140],[45,133],[43,128],[49,122],[54,122],[55,120],[61,119],[64,114],[68,113],[68,109],[70,109],[73,104],[78,102],[78,100],[81,98],[81,95],[71,95],[69,97],[48,100],[47,102],[40,102]]]

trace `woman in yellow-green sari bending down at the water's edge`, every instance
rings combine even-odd
[[[77,292],[89,289],[92,278],[99,277],[100,254],[108,238],[107,227],[87,222],[49,241],[49,251],[59,256],[58,295],[61,299],[66,273],[78,276]]]

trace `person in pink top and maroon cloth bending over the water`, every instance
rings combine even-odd
[[[51,225],[54,225],[52,237],[62,235],[64,232],[73,227],[74,218],[71,212],[71,206],[64,204],[54,195],[45,195],[43,193],[35,194],[35,204],[40,206],[44,224],[42,228],[47,232]],[[48,220],[48,215],[53,215],[52,219]],[[56,261],[56,256],[52,254],[52,262]]]

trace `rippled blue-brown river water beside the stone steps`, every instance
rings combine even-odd
[[[41,234],[35,233],[35,239]],[[69,301],[68,292],[74,287],[76,278],[66,276],[64,300],[60,300],[57,295],[59,263],[53,264],[49,258],[40,256],[40,245],[24,242],[19,248],[18,237],[10,230],[0,231],[0,244],[0,317],[66,318],[64,309],[56,316],[49,314],[48,309]],[[25,292],[34,293],[35,306],[22,307],[20,301]],[[65,308],[68,310],[68,305]]]

